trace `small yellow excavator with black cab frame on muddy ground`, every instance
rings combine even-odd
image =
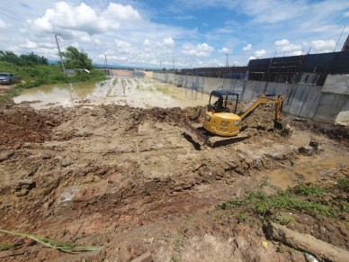
[[[217,99],[217,101],[211,104],[211,101],[215,99]],[[185,133],[190,135],[193,140],[199,142],[201,145],[212,145],[213,142],[219,140],[238,138],[237,135],[242,127],[242,121],[253,113],[259,104],[274,104],[274,122],[278,122],[282,118],[282,95],[258,95],[238,113],[237,103],[237,93],[230,90],[213,90],[210,93],[208,110],[205,113],[202,124],[203,130],[195,129],[190,123],[184,122],[183,128]],[[228,104],[235,104],[235,106],[231,107],[228,106]],[[211,138],[214,136],[216,136],[216,139],[212,141]],[[225,137],[226,139],[221,137]]]

